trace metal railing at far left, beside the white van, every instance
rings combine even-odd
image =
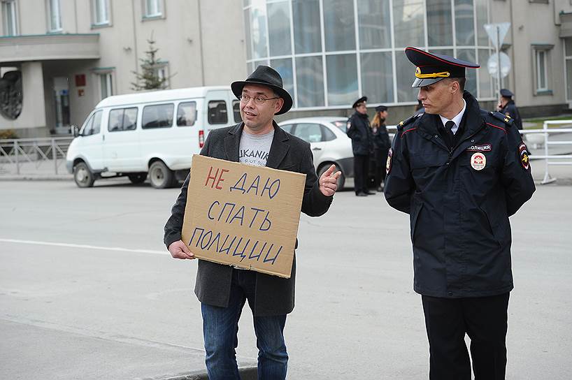
[[[22,168],[38,171],[50,164],[53,172],[49,173],[58,174],[71,140],[73,137],[0,140],[0,174],[20,175]]]

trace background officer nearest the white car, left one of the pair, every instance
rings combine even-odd
[[[373,152],[373,134],[367,117],[367,96],[357,99],[352,105],[355,112],[348,119],[346,133],[352,139],[354,153],[354,188],[355,195],[368,196],[369,191],[369,155]]]

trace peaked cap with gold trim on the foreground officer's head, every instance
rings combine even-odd
[[[415,80],[411,87],[433,85],[444,78],[465,78],[465,68],[480,67],[448,55],[425,52],[417,47],[406,47],[405,54],[416,66]]]

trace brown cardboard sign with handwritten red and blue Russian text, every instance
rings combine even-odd
[[[197,258],[289,278],[305,182],[195,154],[182,240]]]

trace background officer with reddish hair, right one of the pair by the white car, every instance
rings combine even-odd
[[[385,181],[385,163],[387,162],[387,152],[392,143],[389,141],[389,134],[385,127],[387,119],[387,107],[378,105],[376,115],[371,121],[371,133],[373,134],[373,165],[376,168],[374,186],[377,191],[383,191],[383,181]]]

